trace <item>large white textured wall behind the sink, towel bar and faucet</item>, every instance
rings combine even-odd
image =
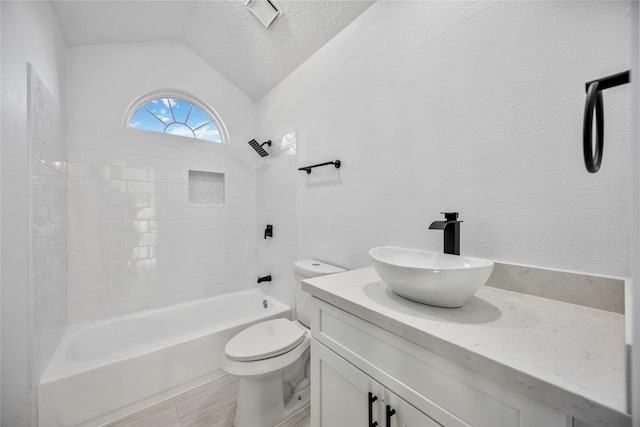
[[[630,273],[629,96],[604,95],[603,167],[586,172],[584,83],[630,66],[629,3],[377,2],[259,103],[298,130],[298,256],[348,268],[368,250],[442,250]],[[261,133],[262,129],[261,129]]]

